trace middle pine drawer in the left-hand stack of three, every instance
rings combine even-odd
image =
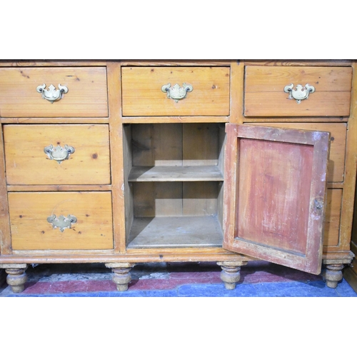
[[[9,185],[111,183],[107,124],[4,125],[4,143]]]

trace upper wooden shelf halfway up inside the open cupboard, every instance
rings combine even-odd
[[[129,181],[223,181],[218,166],[134,166]]]

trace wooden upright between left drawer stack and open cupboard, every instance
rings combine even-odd
[[[123,126],[121,121],[121,66],[108,62],[109,138],[111,151],[111,194],[113,202],[114,251],[125,253],[125,204]]]

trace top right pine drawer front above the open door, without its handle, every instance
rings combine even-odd
[[[246,66],[245,116],[348,116],[351,67]],[[313,86],[301,100],[289,99],[285,86]]]

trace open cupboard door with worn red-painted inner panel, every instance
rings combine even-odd
[[[223,248],[321,273],[330,134],[226,124]]]

